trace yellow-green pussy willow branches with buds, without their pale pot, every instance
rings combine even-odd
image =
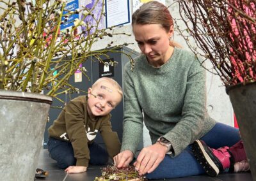
[[[100,20],[93,15],[95,6],[90,10],[68,11],[65,17],[84,11],[84,18],[76,24],[74,22],[70,31],[61,32],[58,27],[63,23],[63,1],[51,4],[48,0],[37,0],[35,4],[26,0],[10,4],[2,2],[0,0],[3,10],[0,15],[0,89],[41,92],[47,88],[46,94],[51,96],[59,94],[56,93],[59,89],[76,90],[68,80],[88,57],[99,55],[99,61],[103,62],[102,57],[108,57],[105,55],[108,52],[118,52],[118,48],[129,45],[124,43],[115,46],[116,49],[92,51],[93,43],[104,36],[113,36],[107,32],[112,27],[99,29]],[[104,4],[103,0],[97,2]],[[85,29],[74,34],[87,16],[94,18],[95,23],[83,24]],[[100,16],[103,16],[103,9]],[[108,43],[106,48],[112,43]],[[68,57],[71,59],[68,60]],[[56,75],[55,71],[58,71]],[[87,76],[86,71],[82,73]]]

